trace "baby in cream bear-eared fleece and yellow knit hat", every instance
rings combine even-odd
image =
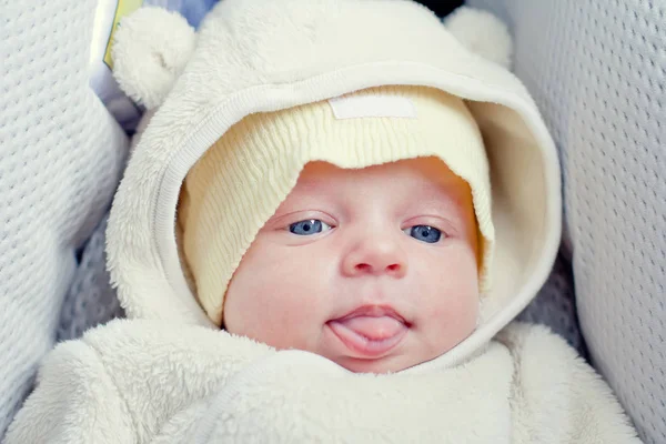
[[[637,443],[512,322],[562,202],[508,42],[402,0],[123,20],[114,73],[154,113],[107,233],[128,320],[56,347],[6,442]]]

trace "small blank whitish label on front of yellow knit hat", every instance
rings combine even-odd
[[[330,99],[335,119],[405,118],[416,119],[414,102],[405,97],[363,94]]]

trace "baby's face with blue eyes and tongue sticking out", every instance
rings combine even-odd
[[[354,372],[432,360],[476,326],[468,185],[435,159],[310,163],[226,293],[224,325]]]

